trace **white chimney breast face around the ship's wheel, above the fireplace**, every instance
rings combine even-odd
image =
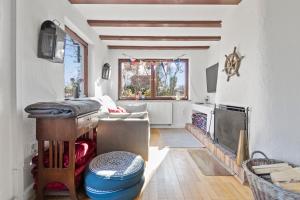
[[[246,0],[223,21],[222,41],[219,53],[219,79],[216,100],[220,103],[249,105],[252,103],[253,78],[261,62],[261,44],[259,37],[262,33],[261,1]],[[227,82],[224,68],[225,54],[233,52],[234,46],[245,58],[242,60],[240,77],[234,76]],[[247,92],[245,92],[247,91]]]

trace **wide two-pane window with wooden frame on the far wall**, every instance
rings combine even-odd
[[[187,59],[119,59],[119,99],[188,99]]]

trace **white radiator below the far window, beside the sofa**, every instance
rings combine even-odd
[[[171,125],[173,123],[172,102],[147,102],[150,124]]]

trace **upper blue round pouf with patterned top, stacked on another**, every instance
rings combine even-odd
[[[136,186],[144,174],[145,162],[139,155],[113,151],[95,157],[86,171],[84,185],[95,191],[119,191]],[[101,194],[102,194],[101,193]]]

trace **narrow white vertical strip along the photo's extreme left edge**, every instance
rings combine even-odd
[[[13,196],[15,1],[0,1],[0,199]]]

